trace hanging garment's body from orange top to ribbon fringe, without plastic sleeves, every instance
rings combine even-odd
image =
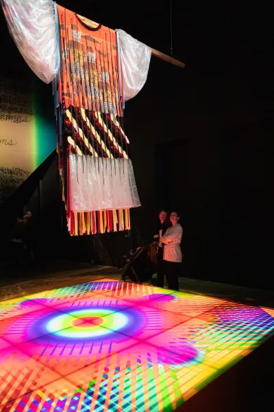
[[[69,232],[129,229],[129,208],[140,201],[123,129],[116,33],[57,8],[58,155]]]

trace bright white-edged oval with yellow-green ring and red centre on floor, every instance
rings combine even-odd
[[[123,312],[96,308],[60,314],[49,320],[45,326],[49,333],[65,338],[83,339],[117,332],[127,323],[127,316]]]

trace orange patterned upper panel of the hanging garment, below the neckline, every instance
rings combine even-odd
[[[60,104],[121,115],[116,33],[103,25],[91,29],[60,5],[62,48]],[[62,94],[62,91],[64,94]]]

